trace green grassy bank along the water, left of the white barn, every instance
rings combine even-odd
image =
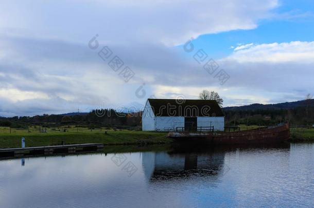
[[[118,144],[165,144],[171,139],[166,138],[166,133],[150,131],[106,130],[104,131],[68,131],[47,133],[1,133],[0,148],[21,147],[21,138],[25,137],[26,147],[66,144],[103,143],[108,145]]]

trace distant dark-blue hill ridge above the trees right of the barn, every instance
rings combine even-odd
[[[277,104],[251,104],[251,105],[243,105],[243,106],[234,106],[234,107],[224,107],[223,109],[225,111],[228,110],[234,110],[234,111],[239,111],[239,110],[266,110],[266,109],[273,109],[273,110],[280,110],[280,109],[292,109],[296,107],[304,107],[307,104],[310,106],[314,106],[314,99],[305,101],[295,101],[295,102],[286,102],[286,103],[277,103]]]

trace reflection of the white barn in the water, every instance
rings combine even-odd
[[[188,179],[194,176],[218,177],[224,168],[224,151],[215,149],[181,149],[171,152],[143,153],[143,169],[147,180]]]

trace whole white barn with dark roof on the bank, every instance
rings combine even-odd
[[[143,131],[224,130],[224,116],[215,100],[148,99],[142,115]]]

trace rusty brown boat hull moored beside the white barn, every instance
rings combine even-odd
[[[290,138],[290,127],[288,123],[284,123],[277,126],[234,132],[170,131],[168,137],[177,141],[202,140],[212,144],[280,143]]]

